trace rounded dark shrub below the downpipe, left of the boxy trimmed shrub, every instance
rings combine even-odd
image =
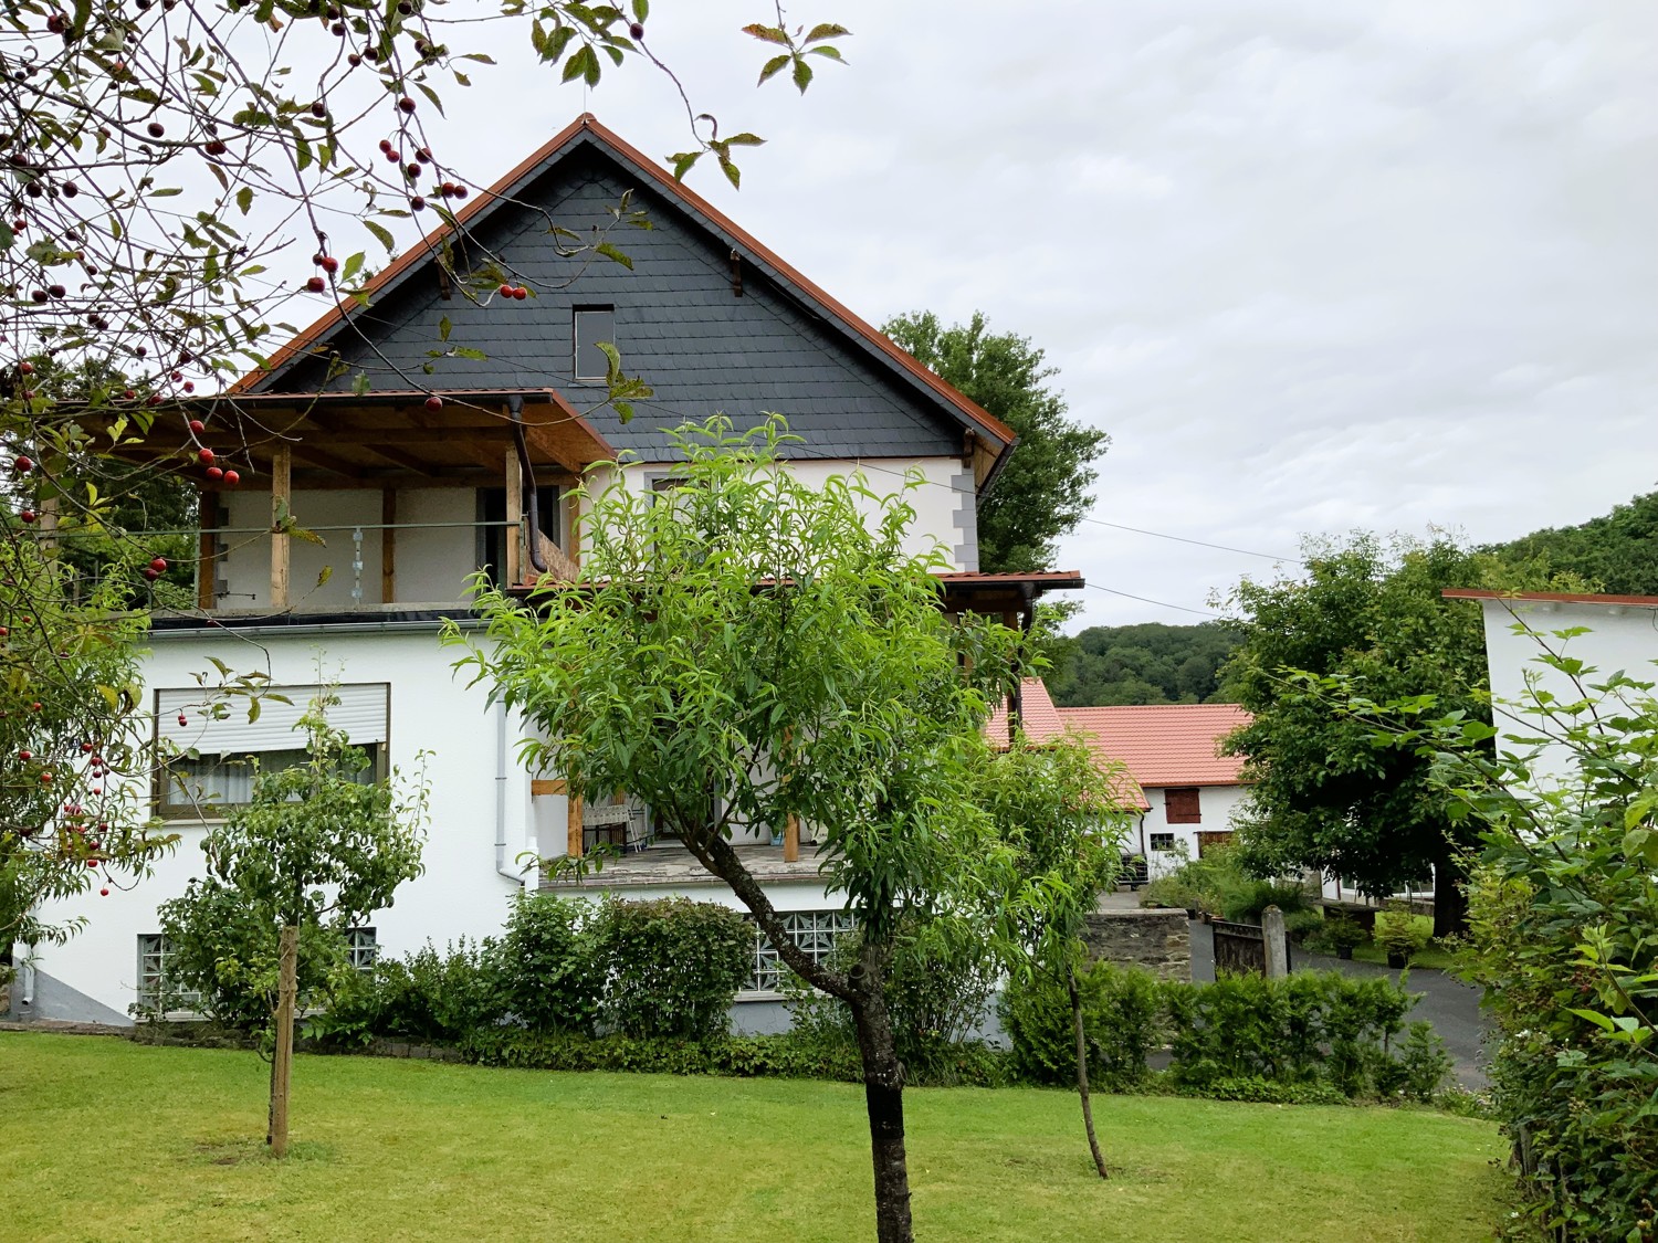
[[[514,1019],[532,1031],[594,1033],[607,968],[594,923],[594,903],[580,898],[512,898],[506,935],[489,958]]]

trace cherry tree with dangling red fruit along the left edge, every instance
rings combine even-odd
[[[227,443],[225,421],[192,403],[262,365],[274,336],[292,331],[285,318],[365,302],[400,230],[448,225],[451,242],[429,245],[459,297],[484,300],[507,275],[526,283],[502,270],[487,239],[468,235],[456,210],[478,181],[428,131],[439,91],[468,86],[491,63],[481,23],[492,17],[527,35],[549,71],[584,88],[630,58],[670,73],[647,41],[647,0],[449,10],[428,0],[7,7],[0,628],[12,631],[15,703],[0,708],[10,713],[0,945],[46,931],[23,926],[40,898],[81,892],[93,875],[141,875],[169,842],[91,809],[108,797],[111,772],[146,774],[153,759],[133,742],[148,731],[126,694],[141,626],[119,610],[151,603],[151,585],[187,570],[176,539],[129,530],[189,525],[189,505],[174,504],[181,481],[219,491],[249,471],[247,444]],[[804,91],[811,66],[837,60],[847,31],[784,27],[773,12],[778,25],[746,27],[768,58],[763,80],[788,70]],[[688,104],[675,172],[711,156],[734,182],[733,152],[759,139],[693,113]],[[350,224],[337,232],[335,222]],[[617,257],[604,239],[557,245],[577,262]],[[285,259],[295,250],[315,252],[308,268]],[[438,381],[419,373],[401,383],[431,391]],[[75,754],[108,764],[65,762]],[[50,805],[46,784],[61,796]]]

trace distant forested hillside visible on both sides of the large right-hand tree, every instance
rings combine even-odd
[[[1610,595],[1658,595],[1658,492],[1578,527],[1534,530],[1492,544],[1504,560],[1570,570]],[[1053,648],[1048,693],[1061,708],[1132,703],[1222,703],[1220,666],[1237,640],[1217,622],[1089,626]]]

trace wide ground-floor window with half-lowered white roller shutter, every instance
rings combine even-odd
[[[174,819],[212,819],[224,807],[245,805],[254,794],[254,774],[280,772],[307,759],[303,734],[295,729],[317,696],[315,686],[272,686],[249,721],[245,703],[232,699],[216,719],[194,689],[156,691],[156,738],[174,747],[174,759],[156,772],[156,810]],[[280,694],[288,703],[279,703]],[[335,686],[340,703],[328,709],[328,724],[345,733],[368,756],[356,779],[368,784],[386,771],[391,688],[386,683]],[[257,769],[254,761],[257,759]]]

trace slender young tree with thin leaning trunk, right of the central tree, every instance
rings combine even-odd
[[[1013,976],[1046,975],[1064,983],[1076,1031],[1083,1129],[1101,1178],[1109,1175],[1094,1134],[1076,966],[1088,915],[1113,883],[1134,819],[1122,804],[1119,779],[1121,767],[1101,767],[1074,736],[1031,746],[1016,734],[1005,752],[987,747],[977,782],[980,805],[1010,847],[1008,873],[996,887],[1003,960]]]

